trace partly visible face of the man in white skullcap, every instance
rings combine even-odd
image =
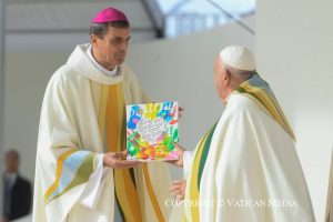
[[[222,67],[220,57],[218,56],[214,62],[214,82],[218,94],[220,99],[224,102],[226,99],[226,89],[225,89],[225,70]]]

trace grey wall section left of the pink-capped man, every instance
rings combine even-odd
[[[21,173],[33,181],[39,114],[47,83],[63,53],[10,53],[4,75],[4,149],[21,153]]]

